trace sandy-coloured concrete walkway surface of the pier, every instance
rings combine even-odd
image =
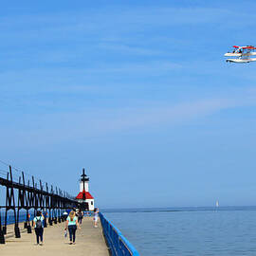
[[[22,224],[21,224],[22,226]],[[0,245],[3,256],[109,256],[105,244],[101,223],[98,228],[93,227],[92,217],[82,220],[82,229],[77,229],[76,245],[69,245],[69,237],[64,238],[64,223],[47,226],[44,230],[44,245],[36,245],[34,230],[32,234],[22,232],[21,238],[14,238],[11,234],[6,237],[6,244]]]

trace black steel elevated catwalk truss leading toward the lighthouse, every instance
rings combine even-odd
[[[39,184],[40,188],[37,188],[37,184],[34,181],[34,176],[32,176],[31,185],[29,179],[27,180],[26,185],[24,172],[21,172],[19,182],[13,181],[11,166],[9,166],[9,172],[6,178],[0,177],[0,188],[1,186],[6,188],[6,205],[0,206],[0,210],[4,209],[5,211],[3,225],[0,214],[0,244],[5,244],[9,210],[13,210],[14,214],[15,237],[20,238],[20,210],[26,210],[27,212],[27,220],[24,222],[24,228],[27,229],[27,233],[31,233],[29,210],[34,210],[34,215],[36,214],[37,210],[41,210],[43,212],[45,216],[46,228],[47,222],[50,226],[52,226],[53,223],[57,224],[58,222],[61,223],[64,221],[64,210],[79,207],[80,205],[74,197],[69,196],[67,192],[63,192],[57,187],[54,191],[53,186],[51,186],[49,191],[46,183],[44,188],[41,180]]]

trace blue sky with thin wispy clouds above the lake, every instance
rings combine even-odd
[[[12,1],[0,159],[101,208],[255,205],[254,1]],[[5,168],[4,166],[1,168]]]

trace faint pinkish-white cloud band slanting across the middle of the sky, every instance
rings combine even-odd
[[[46,145],[62,141],[81,141],[90,137],[105,137],[123,132],[140,133],[163,127],[188,124],[218,111],[255,105],[255,97],[237,99],[209,99],[160,105],[155,102],[146,107],[83,109],[76,112],[24,115],[13,129],[2,125],[2,140],[13,143]],[[11,135],[11,138],[8,136]],[[15,141],[15,142],[14,142]],[[3,142],[4,143],[4,142]],[[29,143],[28,143],[29,144]]]

